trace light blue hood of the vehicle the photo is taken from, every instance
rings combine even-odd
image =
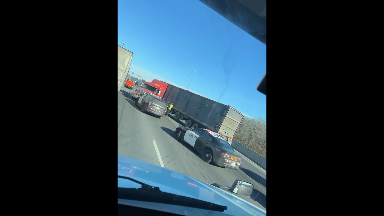
[[[127,176],[142,183],[159,187],[161,191],[196,198],[227,206],[224,213],[232,215],[266,215],[257,206],[208,183],[190,178],[182,173],[162,168],[134,158],[118,155],[118,175]],[[141,185],[118,178],[118,187],[140,188]]]

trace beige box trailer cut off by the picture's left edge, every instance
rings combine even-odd
[[[118,92],[124,86],[131,68],[133,53],[118,45]]]

